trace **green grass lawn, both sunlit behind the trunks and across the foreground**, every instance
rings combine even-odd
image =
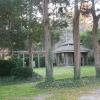
[[[35,68],[35,72],[45,77],[44,68]],[[94,67],[82,67],[81,77],[84,83],[85,77],[94,77]],[[99,79],[91,78],[90,84],[83,86],[68,87],[66,82],[74,83],[73,81],[73,68],[70,67],[55,67],[54,68],[54,79],[56,84],[63,82],[64,87],[43,87],[37,88],[35,85],[40,82],[12,82],[12,83],[0,83],[0,100],[41,100],[38,98],[46,98],[46,100],[77,100],[77,96],[86,93],[86,91],[100,88]],[[62,81],[64,80],[64,81]],[[68,81],[69,80],[69,81]],[[71,81],[72,80],[72,81]],[[77,83],[77,81],[75,81]],[[88,82],[88,79],[86,79]],[[82,84],[83,84],[82,83]],[[44,100],[44,99],[43,99]]]

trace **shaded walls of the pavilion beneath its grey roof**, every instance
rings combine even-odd
[[[87,53],[81,53],[81,65],[87,64]],[[74,65],[74,53],[57,53],[56,54],[57,66],[73,66]]]

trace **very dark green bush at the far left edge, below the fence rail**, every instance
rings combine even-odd
[[[11,70],[16,64],[11,60],[0,60],[0,76],[11,76]]]

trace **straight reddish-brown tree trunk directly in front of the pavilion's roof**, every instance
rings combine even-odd
[[[80,34],[79,34],[79,15],[78,0],[75,0],[74,19],[73,19],[73,38],[74,38],[74,79],[80,78]]]

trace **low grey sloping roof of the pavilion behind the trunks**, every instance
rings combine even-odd
[[[80,44],[80,52],[89,52],[88,48],[85,48],[82,44]],[[61,52],[74,52],[74,45],[70,44],[62,44],[54,48],[54,53],[61,53]]]

